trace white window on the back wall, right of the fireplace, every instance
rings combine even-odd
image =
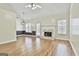
[[[66,34],[66,20],[58,20],[58,34]]]

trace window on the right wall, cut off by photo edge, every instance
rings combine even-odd
[[[74,18],[71,20],[71,33],[79,35],[79,18]]]

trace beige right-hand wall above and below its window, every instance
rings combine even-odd
[[[73,19],[73,18],[79,18],[79,4],[72,4],[72,7],[71,7],[71,19],[70,21]],[[70,27],[70,31],[72,32],[72,29]],[[73,44],[73,47],[77,53],[77,55],[79,55],[79,35],[73,35],[72,33],[70,33],[70,40],[71,40],[71,43]]]

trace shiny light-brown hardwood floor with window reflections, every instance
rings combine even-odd
[[[0,45],[9,56],[74,56],[69,41],[19,36],[16,42]]]

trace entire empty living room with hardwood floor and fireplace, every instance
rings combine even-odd
[[[0,55],[79,55],[78,3],[2,3],[0,19]]]

